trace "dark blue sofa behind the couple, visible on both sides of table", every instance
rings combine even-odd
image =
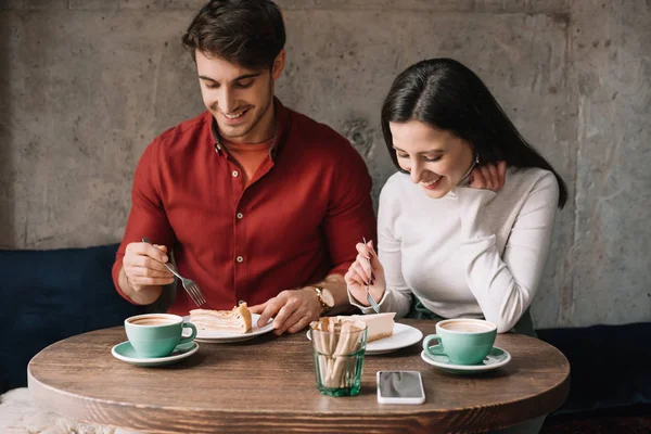
[[[115,291],[117,244],[0,251],[0,393],[27,384],[31,357],[62,339],[144,311]],[[538,330],[571,362],[570,397],[558,414],[651,405],[651,323]],[[648,408],[648,407],[644,407]]]

